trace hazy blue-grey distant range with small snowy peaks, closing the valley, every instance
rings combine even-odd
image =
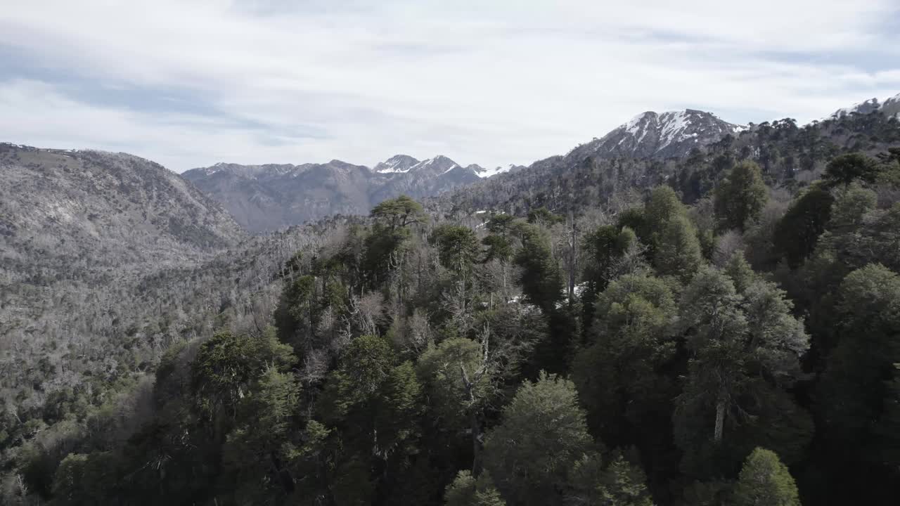
[[[425,160],[396,155],[374,168],[331,160],[327,164],[219,163],[182,174],[220,202],[245,229],[280,230],[337,214],[366,214],[374,204],[408,194],[422,198],[481,179],[484,168],[461,166],[445,156]]]

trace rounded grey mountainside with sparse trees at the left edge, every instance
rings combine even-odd
[[[144,158],[0,144],[0,260],[11,271],[33,272],[24,264],[36,258],[48,272],[183,265],[245,236],[219,203]]]

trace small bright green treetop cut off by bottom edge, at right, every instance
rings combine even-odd
[[[800,506],[800,498],[788,466],[781,464],[775,452],[757,447],[743,463],[734,485],[734,504]]]

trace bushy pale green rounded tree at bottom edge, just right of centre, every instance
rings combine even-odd
[[[563,503],[575,463],[594,446],[572,382],[542,373],[526,381],[484,443],[484,465],[510,502]]]

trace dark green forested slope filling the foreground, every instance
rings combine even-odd
[[[870,116],[389,199],[271,280],[236,257],[196,332],[4,405],[0,502],[896,504],[900,125]]]

